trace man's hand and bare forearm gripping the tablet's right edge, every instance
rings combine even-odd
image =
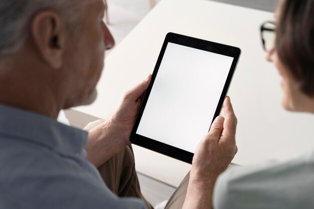
[[[215,181],[238,151],[235,142],[237,118],[229,97],[223,108],[225,118],[218,116],[215,119],[195,152],[183,208],[212,208]]]

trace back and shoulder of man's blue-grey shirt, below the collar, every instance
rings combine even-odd
[[[82,156],[8,141],[0,139],[0,208],[142,208],[115,196]]]

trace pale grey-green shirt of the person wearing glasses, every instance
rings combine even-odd
[[[286,162],[232,167],[219,176],[215,209],[314,208],[314,153]]]

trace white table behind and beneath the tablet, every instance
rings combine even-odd
[[[76,114],[107,118],[122,93],[152,73],[168,32],[237,46],[242,49],[229,96],[238,117],[241,165],[284,160],[314,147],[314,117],[292,114],[281,107],[280,78],[265,61],[259,27],[273,14],[205,0],[164,0],[158,4],[105,60],[99,96]],[[66,112],[71,120],[74,113]],[[83,118],[83,117],[81,117]],[[190,165],[134,147],[137,170],[178,185]]]

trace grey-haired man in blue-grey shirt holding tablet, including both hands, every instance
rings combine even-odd
[[[56,120],[96,98],[114,45],[104,9],[102,0],[0,0],[0,208],[151,208],[128,139],[150,75],[89,135]],[[212,207],[215,180],[237,150],[229,98],[224,111],[168,208]]]

